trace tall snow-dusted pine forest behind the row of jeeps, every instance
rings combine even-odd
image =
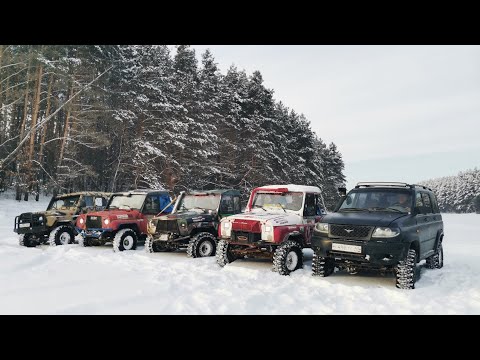
[[[260,72],[222,74],[209,51],[0,45],[0,190],[297,183],[331,207],[344,163],[319,135]]]

